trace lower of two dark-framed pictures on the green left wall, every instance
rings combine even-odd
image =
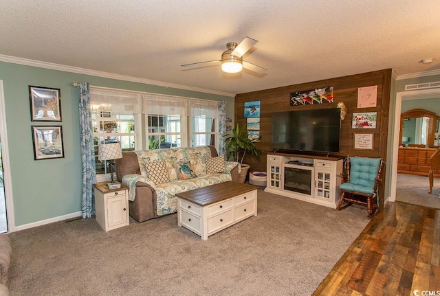
[[[31,126],[34,159],[64,157],[62,126]]]

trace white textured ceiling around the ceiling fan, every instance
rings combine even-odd
[[[259,42],[243,59],[263,76],[180,67],[245,36]],[[233,94],[440,70],[439,49],[439,0],[2,0],[0,10],[1,55]]]

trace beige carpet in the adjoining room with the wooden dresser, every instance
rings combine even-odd
[[[440,209],[440,178],[434,177],[432,194],[429,179],[415,174],[397,174],[396,201]]]

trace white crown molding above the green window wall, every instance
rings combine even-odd
[[[138,83],[142,83],[142,84],[152,84],[152,85],[159,86],[159,87],[170,87],[173,89],[184,89],[186,91],[197,91],[199,93],[210,93],[212,95],[225,95],[227,97],[235,97],[235,93],[226,93],[223,91],[213,91],[212,89],[200,89],[198,87],[188,87],[186,85],[181,85],[181,84],[173,84],[173,83],[162,82],[162,81],[157,81],[157,80],[137,78],[137,77],[125,76],[125,75],[114,74],[114,73],[109,73],[109,72],[102,72],[102,71],[96,71],[96,70],[91,70],[91,69],[84,69],[84,68],[79,68],[79,67],[54,64],[52,62],[41,62],[40,60],[30,60],[28,58],[17,58],[16,56],[5,56],[3,54],[0,54],[0,62],[11,62],[13,64],[39,67],[39,68],[44,68],[44,69],[52,69],[52,70],[70,72],[70,73],[98,76],[98,77],[102,77],[102,78],[123,80],[123,81],[129,81],[129,82],[138,82]]]

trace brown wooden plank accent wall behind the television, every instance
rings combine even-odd
[[[331,109],[336,108],[338,102],[344,102],[347,106],[347,115],[341,123],[340,152],[332,153],[331,156],[360,156],[360,157],[382,157],[386,161],[386,139],[388,137],[388,112],[391,93],[391,71],[384,69],[369,73],[361,73],[339,78],[331,78],[315,82],[288,85],[276,89],[240,93],[235,96],[235,124],[246,125],[244,117],[245,102],[260,101],[260,135],[261,141],[256,146],[261,150],[261,158],[245,157],[244,163],[250,164],[250,171],[266,170],[266,155],[273,152],[270,146],[272,137],[272,113],[279,111],[298,111],[307,109]],[[372,108],[358,109],[358,87],[371,87],[377,85],[377,106]],[[290,93],[295,91],[307,91],[320,89],[322,87],[334,87],[333,103],[312,104],[303,106],[290,106]],[[374,129],[351,128],[353,113],[377,112],[377,125]],[[354,133],[373,133],[373,150],[355,150],[353,148]],[[384,205],[384,179],[385,170],[382,172],[380,183],[380,209]]]

